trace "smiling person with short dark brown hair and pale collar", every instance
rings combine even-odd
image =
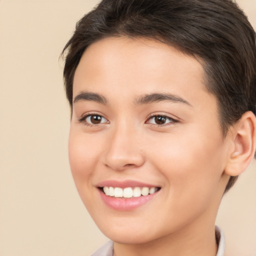
[[[93,255],[224,255],[256,148],[255,33],[231,0],[103,0],[64,51],[69,161],[111,239]]]

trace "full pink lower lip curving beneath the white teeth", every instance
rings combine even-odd
[[[141,195],[139,197],[118,198],[118,197],[108,196],[104,194],[101,190],[99,190],[99,194],[103,202],[107,206],[115,210],[132,210],[132,209],[138,208],[144,205],[145,203],[147,203],[149,200],[151,200],[157,193],[158,191],[154,192],[153,194]]]

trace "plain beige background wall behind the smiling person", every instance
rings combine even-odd
[[[97,0],[0,0],[0,256],[80,256],[106,241],[75,190],[58,56]],[[256,27],[256,0],[239,0]],[[256,163],[224,196],[229,256],[256,255]],[[236,250],[232,251],[235,246]]]

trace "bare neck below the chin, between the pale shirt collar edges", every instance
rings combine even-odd
[[[192,227],[191,227],[192,228]],[[191,232],[191,230],[193,230]],[[216,256],[214,225],[180,230],[143,244],[114,242],[114,256]]]

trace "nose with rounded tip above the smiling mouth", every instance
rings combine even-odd
[[[103,159],[109,168],[122,171],[143,165],[142,143],[134,127],[121,125],[113,129],[106,144]]]

